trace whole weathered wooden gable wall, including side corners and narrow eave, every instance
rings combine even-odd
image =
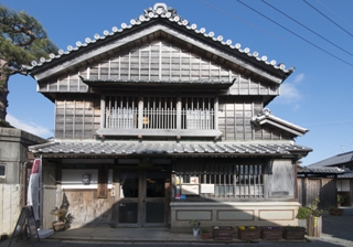
[[[223,89],[231,95],[279,94],[279,86],[256,80],[192,51],[154,40],[130,50],[113,50],[100,60],[86,60],[79,68],[69,66],[73,72],[63,71],[52,75],[49,80],[39,82],[41,93],[71,92],[87,93],[90,86],[117,88],[126,86],[168,86],[179,89]],[[67,74],[68,73],[68,74]],[[54,98],[54,96],[50,96]]]

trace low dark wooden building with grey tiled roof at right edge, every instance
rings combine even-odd
[[[298,169],[299,202],[308,205],[314,197],[320,197],[321,207],[336,205],[338,195],[344,196],[342,206],[352,206],[353,202],[353,151]]]

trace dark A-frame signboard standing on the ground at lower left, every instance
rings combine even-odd
[[[13,234],[12,234],[9,246],[11,245],[12,239],[19,238],[21,234],[23,238],[26,238],[26,239],[32,238],[36,235],[38,240],[40,240],[36,225],[35,225],[33,206],[22,207],[18,223],[15,224],[15,227],[13,229]]]

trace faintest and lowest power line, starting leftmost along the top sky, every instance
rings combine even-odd
[[[330,63],[330,64],[332,64],[332,65],[334,65],[334,66],[336,66],[336,67],[342,68],[343,71],[346,71],[346,72],[353,74],[352,71],[350,71],[350,69],[347,69],[347,68],[345,68],[345,67],[342,67],[342,66],[339,65],[339,64],[333,63],[331,60],[328,60],[328,58],[325,58],[325,57],[322,57],[322,56],[313,53],[312,51],[309,51],[309,50],[307,50],[307,49],[304,49],[304,47],[302,47],[302,46],[300,46],[300,45],[298,45],[298,44],[292,43],[292,42],[289,41],[289,40],[286,40],[286,39],[281,37],[281,36],[278,36],[277,34],[275,34],[275,33],[272,33],[272,32],[270,32],[270,31],[268,31],[268,30],[265,30],[265,29],[263,29],[263,28],[259,28],[259,26],[257,26],[256,24],[253,24],[253,23],[250,23],[250,22],[248,22],[248,21],[246,21],[246,20],[244,20],[244,19],[240,19],[240,18],[238,18],[238,17],[236,17],[236,15],[234,15],[234,14],[232,14],[232,13],[229,13],[229,12],[223,10],[223,9],[220,9],[220,8],[215,7],[215,6],[212,6],[212,4],[208,3],[208,2],[205,2],[205,1],[203,1],[203,0],[199,0],[199,1],[200,1],[201,3],[203,3],[203,4],[205,4],[205,6],[211,7],[212,9],[215,9],[215,10],[217,10],[217,11],[220,11],[220,12],[226,14],[226,15],[229,15],[229,17],[233,18],[233,19],[236,19],[236,20],[238,20],[238,21],[240,21],[240,22],[244,22],[245,24],[250,25],[252,28],[255,28],[255,29],[257,29],[257,30],[259,30],[259,31],[261,31],[261,32],[264,32],[264,33],[267,33],[267,34],[269,34],[269,35],[271,35],[271,36],[274,36],[274,37],[276,37],[276,39],[278,39],[278,40],[281,40],[281,41],[284,41],[284,42],[286,42],[286,43],[288,43],[288,44],[290,44],[290,45],[292,45],[292,46],[295,46],[295,47],[297,47],[297,49],[300,49],[300,50],[302,50],[302,51],[304,51],[304,52],[307,52],[307,53],[309,53],[309,54],[311,54],[311,55],[313,55],[313,56],[315,56],[315,57],[318,57],[318,58],[320,58],[320,60],[322,60],[322,61],[325,61],[327,63]]]

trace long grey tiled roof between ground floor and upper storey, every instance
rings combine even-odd
[[[236,142],[168,142],[168,141],[52,141],[45,144],[29,148],[36,154],[98,154],[98,155],[126,155],[126,154],[292,154],[307,155],[312,151],[309,148],[289,143],[236,143]]]

